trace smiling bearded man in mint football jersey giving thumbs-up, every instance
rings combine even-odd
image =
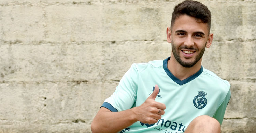
[[[167,28],[171,57],[133,64],[91,123],[93,133],[219,133],[230,84],[201,66],[212,44],[211,13],[178,4]]]

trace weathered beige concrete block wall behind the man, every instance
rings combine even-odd
[[[222,133],[256,132],[256,1],[200,0],[203,65],[231,84]],[[0,133],[91,132],[132,63],[165,59],[176,0],[1,0]]]

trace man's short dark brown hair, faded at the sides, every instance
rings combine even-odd
[[[199,22],[207,23],[208,34],[210,33],[211,11],[202,3],[193,0],[185,0],[180,4],[177,4],[172,12],[171,28],[180,15],[195,17]]]

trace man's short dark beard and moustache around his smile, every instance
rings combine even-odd
[[[206,46],[206,43],[205,43],[205,46]],[[203,53],[204,53],[204,50],[205,50],[205,46],[204,48],[199,52],[199,54],[196,56],[196,59],[192,62],[184,62],[181,60],[181,57],[179,55],[179,49],[176,48],[174,42],[172,41],[172,53],[175,57],[175,59],[183,66],[183,67],[186,67],[186,68],[191,68],[193,67],[203,56]],[[181,48],[180,48],[181,49]],[[182,47],[182,49],[190,49],[190,50],[195,50],[193,48],[187,48],[186,46],[185,47]]]

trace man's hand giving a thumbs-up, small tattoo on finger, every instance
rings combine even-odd
[[[159,92],[158,85],[155,85],[155,90],[146,99],[146,101],[141,104],[141,106],[132,108],[133,112],[136,114],[137,121],[142,123],[153,124],[162,118],[161,115],[165,114],[164,109],[166,109],[165,104],[156,102],[156,96]]]

